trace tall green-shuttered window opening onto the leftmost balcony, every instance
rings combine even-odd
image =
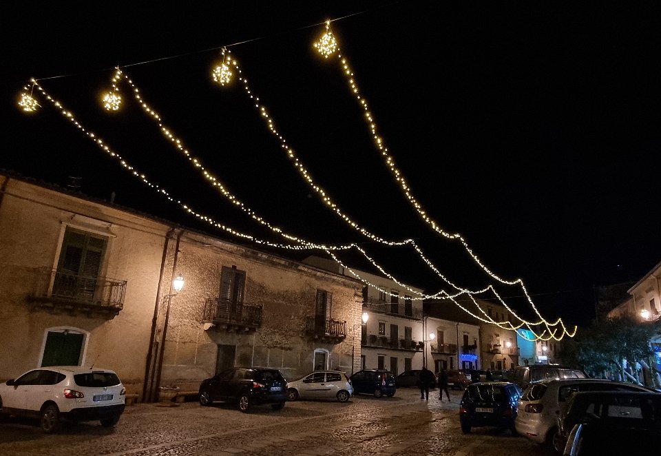
[[[108,238],[67,227],[62,241],[53,296],[94,300]]]

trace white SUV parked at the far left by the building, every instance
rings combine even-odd
[[[98,419],[114,426],[124,412],[126,388],[108,369],[48,366],[32,369],[0,384],[0,413],[37,417],[45,433],[56,431],[60,418]]]

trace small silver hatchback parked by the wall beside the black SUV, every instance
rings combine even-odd
[[[341,371],[314,371],[299,380],[287,382],[287,399],[335,399],[346,402],[353,396],[353,385]]]

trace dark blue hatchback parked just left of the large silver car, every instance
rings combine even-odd
[[[516,435],[514,419],[521,388],[509,382],[479,382],[468,385],[459,402],[461,431],[470,433],[471,428],[494,426],[510,429]]]

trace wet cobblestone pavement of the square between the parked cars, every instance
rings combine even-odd
[[[234,404],[136,404],[115,428],[81,423],[54,435],[10,418],[0,424],[0,455],[554,455],[510,431],[463,434],[461,392],[451,391],[452,402],[438,394],[425,401],[416,389],[400,388],[395,397],[287,402],[280,411],[258,406],[247,414]]]

